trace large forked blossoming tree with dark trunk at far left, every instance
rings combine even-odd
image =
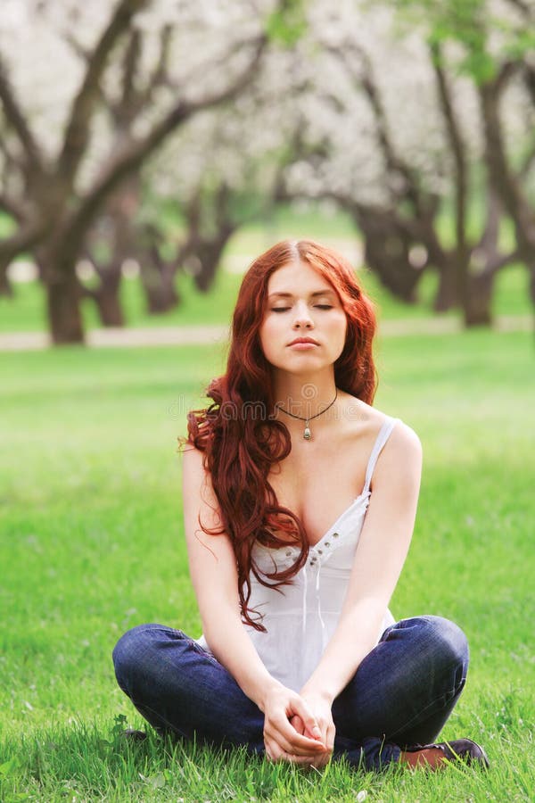
[[[17,254],[34,253],[54,343],[83,341],[76,262],[103,203],[171,132],[243,90],[266,47],[267,21],[289,5],[6,0],[0,207],[13,227],[0,241],[0,273]],[[124,92],[134,74],[130,119],[116,126],[103,93]]]

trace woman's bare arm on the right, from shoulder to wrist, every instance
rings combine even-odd
[[[330,710],[334,698],[377,642],[384,612],[407,557],[421,476],[422,444],[416,433],[400,422],[375,466],[373,493],[340,621],[317,668],[300,691],[314,708]]]

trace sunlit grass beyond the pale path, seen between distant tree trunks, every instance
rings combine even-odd
[[[121,304],[128,326],[189,326],[202,325],[207,321],[212,324],[226,324],[241,281],[239,274],[228,269],[240,266],[246,269],[254,256],[277,240],[303,236],[313,236],[333,247],[349,247],[350,251],[358,252],[359,237],[347,215],[338,212],[332,217],[326,217],[319,210],[296,211],[284,207],[277,211],[273,219],[243,228],[235,235],[226,248],[222,269],[219,270],[209,294],[197,292],[192,277],[178,276],[177,289],[182,301],[174,310],[169,310],[164,315],[149,315],[145,310],[143,288],[139,281],[124,279],[121,285]],[[377,302],[384,319],[432,317],[432,301],[437,286],[434,273],[424,275],[418,286],[418,302],[412,306],[394,298],[370,271],[360,270],[359,277],[368,294]],[[532,309],[528,285],[528,272],[522,266],[501,271],[497,278],[493,311],[498,315],[530,314]],[[45,330],[45,294],[42,286],[32,282],[16,284],[14,289],[15,298],[0,297],[0,332]],[[94,302],[83,302],[82,313],[86,329],[101,326]],[[447,317],[459,317],[459,312],[449,311]]]

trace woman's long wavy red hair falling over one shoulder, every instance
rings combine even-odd
[[[269,277],[292,261],[306,262],[317,270],[342,302],[347,331],[342,354],[334,363],[336,386],[368,404],[373,402],[373,302],[363,293],[354,269],[341,254],[311,240],[285,240],[259,256],[244,275],[233,316],[226,374],[212,380],[207,389],[210,406],[188,414],[187,437],[179,439],[182,446],[193,445],[203,452],[204,468],[210,472],[220,508],[221,526],[207,529],[201,521],[199,524],[207,534],[230,536],[243,621],[262,631],[265,628],[259,617],[248,608],[251,573],[259,583],[278,588],[291,581],[309,554],[307,534],[299,517],[278,504],[268,482],[270,468],[290,453],[292,442],[284,423],[273,417],[276,400],[271,366],[259,339]],[[282,547],[289,541],[300,546],[292,567],[262,574],[252,556],[254,543]]]

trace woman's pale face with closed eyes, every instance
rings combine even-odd
[[[289,262],[269,277],[259,336],[275,368],[309,373],[333,365],[342,354],[346,329],[336,291],[307,262]],[[299,343],[300,338],[311,342]]]

